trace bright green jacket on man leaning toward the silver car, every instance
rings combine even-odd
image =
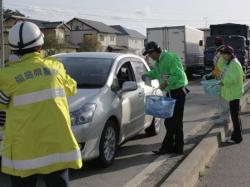
[[[163,75],[169,76],[168,86],[165,91],[175,90],[188,84],[183,65],[177,54],[162,51],[159,60],[155,62],[153,69],[145,74],[150,79],[158,79],[163,83]]]

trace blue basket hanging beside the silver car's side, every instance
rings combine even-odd
[[[175,99],[166,96],[146,96],[145,112],[158,118],[171,118],[173,117],[175,102]]]

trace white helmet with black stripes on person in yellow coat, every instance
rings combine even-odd
[[[9,32],[9,45],[13,51],[22,51],[25,49],[42,46],[43,33],[39,27],[31,22],[17,22]]]

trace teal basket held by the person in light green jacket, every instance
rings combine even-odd
[[[205,94],[211,96],[219,96],[221,94],[221,81],[216,79],[201,81]]]

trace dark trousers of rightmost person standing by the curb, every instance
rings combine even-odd
[[[240,113],[240,100],[235,99],[229,102],[229,107],[230,107],[230,114],[233,122],[233,133],[231,136],[231,139],[236,141],[236,142],[241,142],[242,141],[242,135],[241,135],[241,120],[239,117]]]

